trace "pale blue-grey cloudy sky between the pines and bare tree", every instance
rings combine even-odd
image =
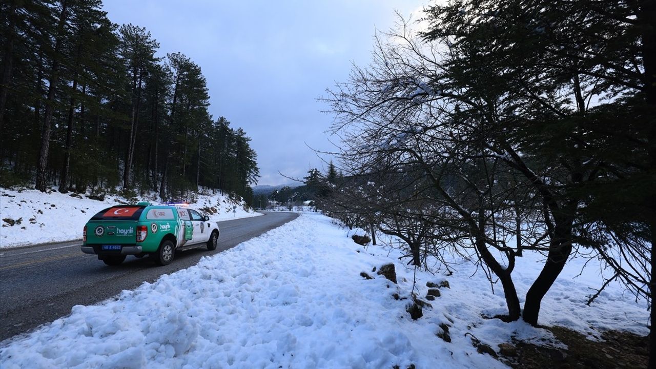
[[[316,99],[369,62],[375,31],[394,11],[419,16],[426,1],[104,0],[117,24],[146,27],[158,56],[181,52],[198,64],[210,113],[242,127],[257,152],[258,185],[281,185],[325,165],[310,148],[333,150],[332,117]],[[335,139],[333,139],[335,141]]]

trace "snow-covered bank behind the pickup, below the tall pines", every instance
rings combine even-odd
[[[230,200],[220,192],[203,192],[205,194],[200,194],[195,202],[190,203],[190,207],[213,209],[205,211],[212,221],[261,215],[245,209],[243,202]],[[127,200],[117,196],[106,196],[101,202],[82,195],[71,195],[75,194],[56,191],[44,193],[37,190],[18,192],[0,188],[0,248],[81,238],[82,228],[92,215],[106,207],[127,203]],[[157,204],[156,201],[152,202]],[[11,221],[15,222],[14,225],[11,225]]]

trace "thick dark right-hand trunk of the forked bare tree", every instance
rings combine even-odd
[[[524,303],[524,321],[532,326],[537,326],[540,314],[540,305],[546,292],[551,288],[558,275],[565,267],[569,254],[572,251],[572,221],[567,219],[556,223],[553,238],[549,243],[549,252],[546,263],[526,293]]]

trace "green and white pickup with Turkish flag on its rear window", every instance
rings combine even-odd
[[[186,206],[112,206],[84,226],[84,253],[98,255],[106,265],[123,263],[126,255],[151,255],[158,265],[173,261],[176,251],[207,246],[216,250],[219,229],[207,215]]]

